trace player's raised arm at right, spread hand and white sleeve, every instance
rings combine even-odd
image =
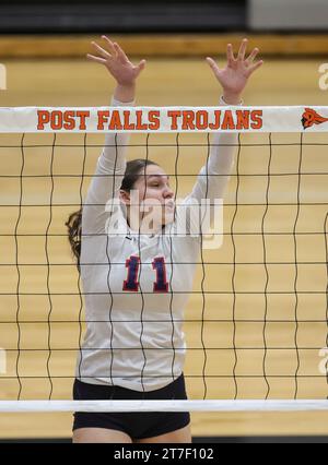
[[[259,52],[258,48],[255,48],[245,58],[246,48],[247,39],[244,39],[235,58],[233,47],[229,44],[226,47],[227,61],[223,69],[220,69],[212,58],[207,58],[214,76],[222,86],[223,93],[220,105],[241,105],[242,94],[249,76],[263,63],[262,60],[254,61]],[[222,199],[230,179],[236,143],[237,134],[214,134],[209,158],[199,172],[192,192],[186,199],[187,203],[192,203],[192,199],[195,199],[200,204],[201,199],[209,199],[210,203],[213,204],[214,199]]]

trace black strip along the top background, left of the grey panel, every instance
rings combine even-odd
[[[188,33],[246,28],[247,0],[1,0],[5,34]]]

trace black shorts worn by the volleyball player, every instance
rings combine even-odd
[[[181,374],[167,386],[150,392],[131,391],[120,386],[86,384],[75,380],[74,401],[169,401],[187,400],[185,379]],[[133,439],[154,438],[189,425],[187,412],[140,413],[83,413],[74,414],[73,430],[79,428],[105,428],[122,431]]]

